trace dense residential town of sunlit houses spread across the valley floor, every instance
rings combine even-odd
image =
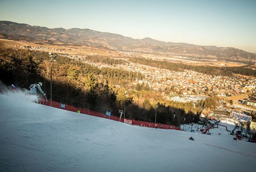
[[[211,76],[195,71],[185,70],[184,72],[169,71],[152,66],[132,63],[108,65],[93,63],[83,56],[67,56],[99,68],[110,67],[142,73],[145,78],[135,81],[133,84],[148,84],[155,91],[165,91],[166,88],[174,86],[174,91],[182,95],[189,94],[218,94],[220,97],[233,95],[244,95],[246,92],[256,92],[256,78],[242,76]]]

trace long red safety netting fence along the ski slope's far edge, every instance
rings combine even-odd
[[[45,100],[42,100],[41,104],[46,105],[46,106],[55,107],[55,108],[58,108],[58,109],[64,109],[64,110],[72,111],[72,112],[77,112],[79,110],[80,113],[83,113],[83,114],[86,114],[86,115],[91,115],[91,116],[97,116],[97,117],[100,117],[100,118],[104,118],[105,117],[104,113],[94,112],[94,111],[89,110],[89,109],[82,109],[82,108],[74,107],[74,106],[71,106],[71,105],[68,105],[68,104],[65,104],[65,108],[62,108],[61,107],[61,103],[58,103],[56,101],[50,101],[50,100],[49,101],[45,101]],[[107,115],[106,115],[106,118],[108,119]],[[119,121],[120,117],[119,116],[111,115],[109,117],[109,119],[111,119],[113,121]],[[134,119],[128,119],[128,120],[132,120],[133,121],[132,122],[133,125],[139,125],[139,126],[142,126],[142,127],[155,128],[155,123],[154,122],[137,121],[137,120],[134,120]],[[124,122],[124,119],[121,118],[120,122]],[[166,125],[166,124],[160,124],[160,123],[157,123],[157,128],[181,130],[180,128],[175,127],[175,125]]]

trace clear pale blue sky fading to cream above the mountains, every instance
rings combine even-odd
[[[0,0],[0,20],[256,53],[256,0]]]

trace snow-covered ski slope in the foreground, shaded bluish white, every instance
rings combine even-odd
[[[0,171],[254,171],[256,144],[132,126],[0,94]],[[193,137],[195,141],[189,140]]]

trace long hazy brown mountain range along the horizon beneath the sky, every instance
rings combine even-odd
[[[149,53],[168,53],[185,56],[218,57],[235,60],[256,59],[255,53],[249,53],[233,47],[201,46],[186,43],[163,42],[151,38],[133,39],[130,37],[98,32],[90,29],[49,29],[30,26],[11,21],[0,21],[0,38],[37,41],[64,42],[91,46],[103,46],[116,50],[143,51]]]

